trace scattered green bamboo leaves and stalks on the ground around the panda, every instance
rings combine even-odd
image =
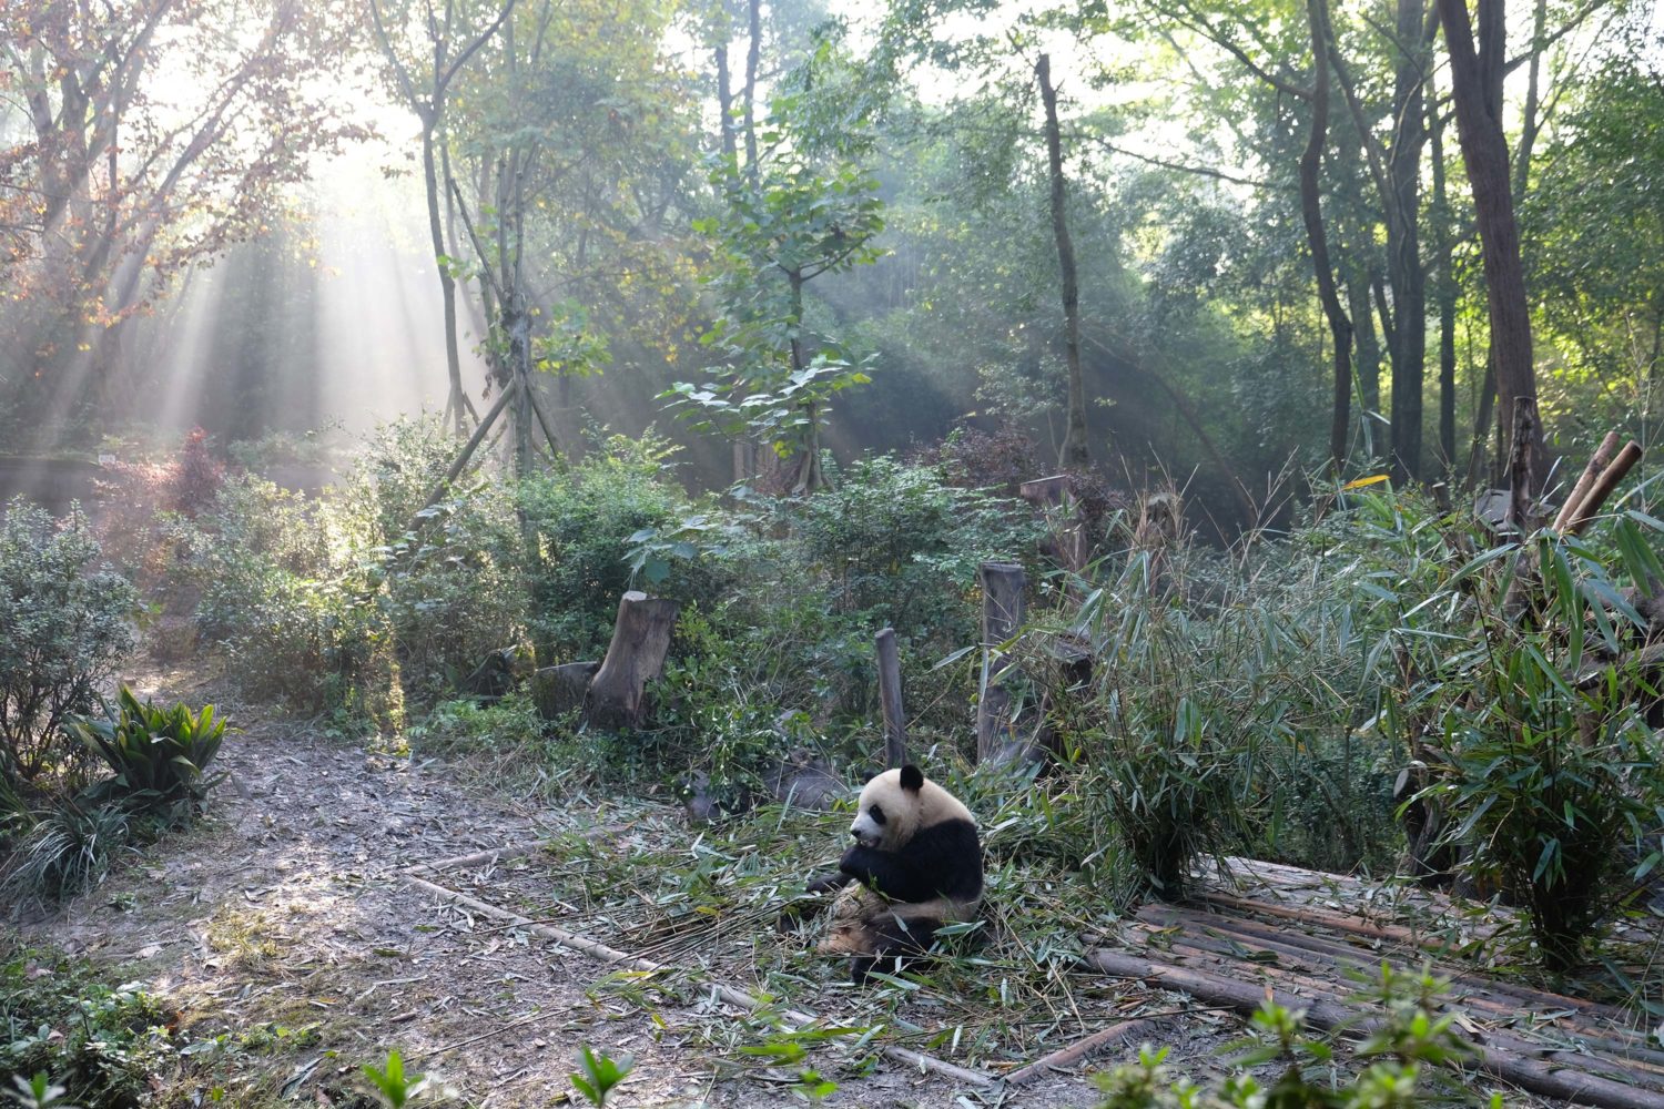
[[[649,1009],[712,981],[772,999],[762,1014],[696,1031],[719,1059],[744,1062],[747,1046],[777,1031],[770,1011],[785,1008],[860,1029],[850,1039],[864,1036],[865,1052],[902,1042],[977,1066],[1090,1031],[1115,1011],[1115,989],[1073,971],[1128,904],[1133,876],[1110,855],[1070,850],[1097,836],[1060,783],[935,775],[982,815],[985,919],[947,941],[952,958],[880,974],[877,988],[850,986],[845,964],[815,954],[829,900],[804,895],[807,876],[835,870],[850,808],[770,805],[689,831],[664,806],[572,798],[569,826],[493,898],[674,968],[599,986]]]

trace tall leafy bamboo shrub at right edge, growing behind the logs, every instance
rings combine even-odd
[[[1478,600],[1468,648],[1448,650],[1408,692],[1439,737],[1421,800],[1449,813],[1459,868],[1499,881],[1524,908],[1541,963],[1564,973],[1639,891],[1632,878],[1659,861],[1644,841],[1664,813],[1664,768],[1634,703],[1651,685],[1611,660],[1622,640],[1604,602],[1617,592],[1596,552],[1539,534],[1508,564],[1513,572],[1468,579]],[[1543,580],[1521,580],[1533,564]],[[1514,617],[1511,597],[1533,612]]]

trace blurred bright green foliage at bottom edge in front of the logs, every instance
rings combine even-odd
[[[1454,1014],[1434,1016],[1438,996],[1449,983],[1428,974],[1401,974],[1389,966],[1356,996],[1379,1006],[1374,1029],[1353,1052],[1371,1061],[1358,1072],[1336,1066],[1336,1044],[1306,1033],[1305,1013],[1266,1001],[1253,1014],[1253,1038],[1240,1044],[1233,1072],[1203,1087],[1178,1077],[1166,1064],[1166,1047],[1145,1046],[1138,1062],[1097,1076],[1103,1101],[1098,1109],[1256,1109],[1260,1106],[1331,1106],[1336,1109],[1386,1109],[1428,1104],[1484,1104],[1476,1092],[1441,1081],[1433,1067],[1459,1064],[1473,1047],[1456,1031]],[[1261,1084],[1250,1067],[1278,1064],[1281,1076]],[[1498,1097],[1493,1106],[1501,1106]]]

